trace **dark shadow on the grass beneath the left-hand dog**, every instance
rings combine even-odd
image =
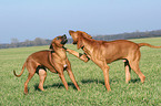
[[[41,91],[38,88],[38,86],[39,86],[39,84],[36,84],[36,85],[34,85],[34,89],[41,92]],[[73,89],[77,89],[77,87],[74,86],[73,83],[68,83],[68,86],[72,86]],[[62,83],[54,83],[54,84],[52,84],[52,85],[46,85],[46,86],[43,86],[44,89],[48,89],[48,88],[51,88],[51,87],[64,88],[64,85],[63,85]]]

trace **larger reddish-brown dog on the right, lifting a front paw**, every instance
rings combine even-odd
[[[150,46],[150,47],[161,47],[153,46],[148,43],[134,43],[127,40],[117,40],[117,41],[97,41],[91,39],[91,36],[82,31],[69,31],[70,35],[73,39],[73,44],[77,44],[78,49],[82,49],[84,54],[80,54],[72,50],[67,50],[69,53],[76,55],[77,57],[88,62],[91,59],[102,71],[104,75],[104,83],[108,91],[111,91],[109,84],[109,66],[107,64],[117,61],[124,60],[125,66],[125,82],[130,81],[130,70],[132,68],[140,77],[143,83],[145,76],[141,73],[139,68],[140,61],[140,47]]]

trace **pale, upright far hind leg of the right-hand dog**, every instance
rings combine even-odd
[[[131,80],[130,73],[131,73],[131,67],[129,65],[129,61],[124,60],[124,68],[125,68],[125,83],[128,84],[129,81]]]

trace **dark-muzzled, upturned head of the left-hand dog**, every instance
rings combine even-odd
[[[56,46],[58,47],[62,47],[66,43],[68,42],[66,34],[63,34],[62,36],[57,36],[52,40],[51,44],[50,44],[50,49],[53,49]]]

